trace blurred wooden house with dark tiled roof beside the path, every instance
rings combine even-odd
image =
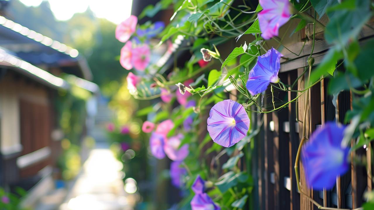
[[[29,191],[28,205],[54,187],[64,135],[55,119],[58,92],[79,86],[96,93],[98,86],[76,49],[4,16],[0,47],[0,186]]]

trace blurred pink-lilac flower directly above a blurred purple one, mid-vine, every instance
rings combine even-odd
[[[178,134],[177,136],[173,136],[165,140],[164,151],[166,155],[168,155],[168,158],[170,158],[170,160],[182,161],[187,157],[189,153],[188,144],[184,144],[183,146],[181,146],[181,148],[179,148],[182,139],[183,135]]]

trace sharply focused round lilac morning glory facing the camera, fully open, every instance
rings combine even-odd
[[[213,141],[225,147],[242,140],[249,129],[249,118],[244,107],[230,99],[212,107],[207,123]]]

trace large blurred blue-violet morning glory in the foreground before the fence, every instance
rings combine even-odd
[[[326,123],[317,129],[301,153],[308,184],[316,190],[331,189],[336,177],[349,169],[349,148],[342,147],[344,126]]]

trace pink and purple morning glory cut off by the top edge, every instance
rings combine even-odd
[[[279,28],[291,17],[288,0],[260,0],[263,10],[258,13],[261,36],[270,39],[278,36]]]

